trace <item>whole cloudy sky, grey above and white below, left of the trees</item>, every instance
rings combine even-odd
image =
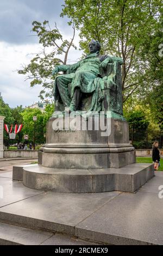
[[[48,20],[51,25],[57,22],[66,39],[72,36],[68,19],[61,18],[61,4],[64,0],[0,0],[0,92],[10,107],[29,106],[39,101],[41,86],[30,87],[24,76],[15,70],[21,64],[29,64],[31,53],[39,52],[40,45],[33,33],[32,22]],[[78,33],[77,33],[78,34]],[[78,46],[78,35],[75,44]],[[68,62],[74,63],[82,52],[72,50]]]

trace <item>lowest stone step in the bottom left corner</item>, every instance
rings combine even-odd
[[[0,222],[0,245],[98,245],[98,243]]]

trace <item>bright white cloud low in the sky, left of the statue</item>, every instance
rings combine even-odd
[[[29,64],[31,54],[39,51],[39,44],[10,45],[0,42],[0,92],[10,107],[29,106],[40,100],[38,95],[42,87],[30,87],[30,81],[24,81],[25,76],[18,75],[15,71],[21,69],[21,64]],[[81,55],[80,51],[72,49],[68,54],[67,63],[77,62]]]

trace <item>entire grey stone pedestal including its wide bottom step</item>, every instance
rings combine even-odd
[[[122,116],[103,118],[103,125],[100,118],[80,115],[49,119],[38,164],[15,166],[13,179],[45,191],[135,192],[154,175],[153,164],[135,163],[128,123]]]

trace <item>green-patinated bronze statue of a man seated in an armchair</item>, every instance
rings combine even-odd
[[[123,60],[99,54],[101,45],[97,40],[89,43],[90,54],[72,65],[59,65],[53,75],[60,71],[54,82],[55,110],[104,111],[122,114],[121,64]],[[109,89],[109,90],[108,90]],[[111,99],[111,94],[116,99]]]

